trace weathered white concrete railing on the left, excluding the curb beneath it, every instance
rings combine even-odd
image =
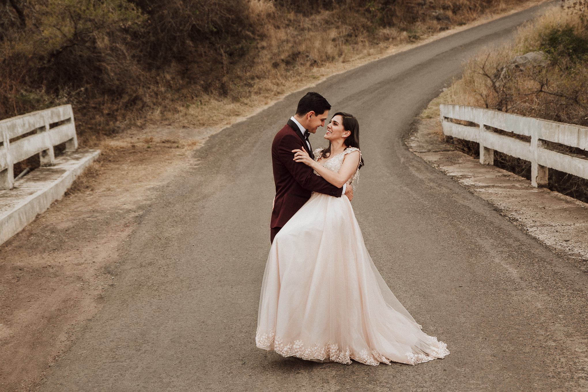
[[[11,142],[18,136],[32,133]],[[71,105],[39,110],[38,112],[0,121],[0,189],[14,187],[14,164],[39,154],[41,166],[55,162],[54,146],[65,142],[66,151],[78,148],[74,112]]]

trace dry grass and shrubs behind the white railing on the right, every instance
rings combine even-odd
[[[519,28],[510,46],[488,48],[469,59],[463,77],[443,93],[457,105],[479,106],[523,116],[588,125],[588,21],[586,8],[554,7]],[[516,56],[540,53],[542,62],[515,65]],[[504,132],[496,130],[496,132]],[[479,156],[479,145],[452,139]],[[565,153],[588,156],[586,150]],[[530,179],[530,162],[495,152],[495,165]],[[549,188],[588,202],[588,180],[549,170]]]

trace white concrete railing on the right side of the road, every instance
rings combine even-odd
[[[463,105],[440,105],[443,133],[480,143],[480,163],[492,165],[494,150],[531,162],[531,185],[547,186],[547,170],[588,179],[588,158],[563,152],[557,145],[588,150],[588,128]],[[462,120],[471,125],[454,122]],[[501,135],[492,128],[529,136],[530,142]],[[557,143],[547,146],[546,142]]]

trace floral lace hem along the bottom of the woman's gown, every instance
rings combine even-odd
[[[423,363],[445,357],[449,354],[447,350],[447,344],[442,341],[437,342],[436,337],[430,337],[431,343],[435,343],[439,346],[439,349],[432,347],[433,352],[430,354],[415,354],[406,353],[406,364],[415,365],[417,363]],[[358,361],[360,363],[377,366],[380,362],[390,365],[390,360],[385,356],[378,353],[376,350],[372,350],[370,353],[368,350],[362,350],[359,353],[354,353],[349,347],[339,351],[339,345],[332,342],[326,342],[322,345],[314,343],[310,347],[305,348],[304,342],[301,340],[295,340],[293,343],[284,343],[283,339],[276,336],[275,329],[269,331],[269,333],[261,334],[259,328],[255,334],[255,343],[259,349],[264,349],[273,344],[273,350],[283,357],[298,357],[303,360],[321,360],[321,361],[334,361],[344,364],[351,364],[351,360]]]

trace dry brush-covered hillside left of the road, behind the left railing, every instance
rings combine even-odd
[[[24,24],[10,6],[0,11],[0,118],[72,103],[81,145],[92,147],[151,123],[222,126],[396,46],[524,2],[350,0],[309,13],[302,0],[15,0]]]

